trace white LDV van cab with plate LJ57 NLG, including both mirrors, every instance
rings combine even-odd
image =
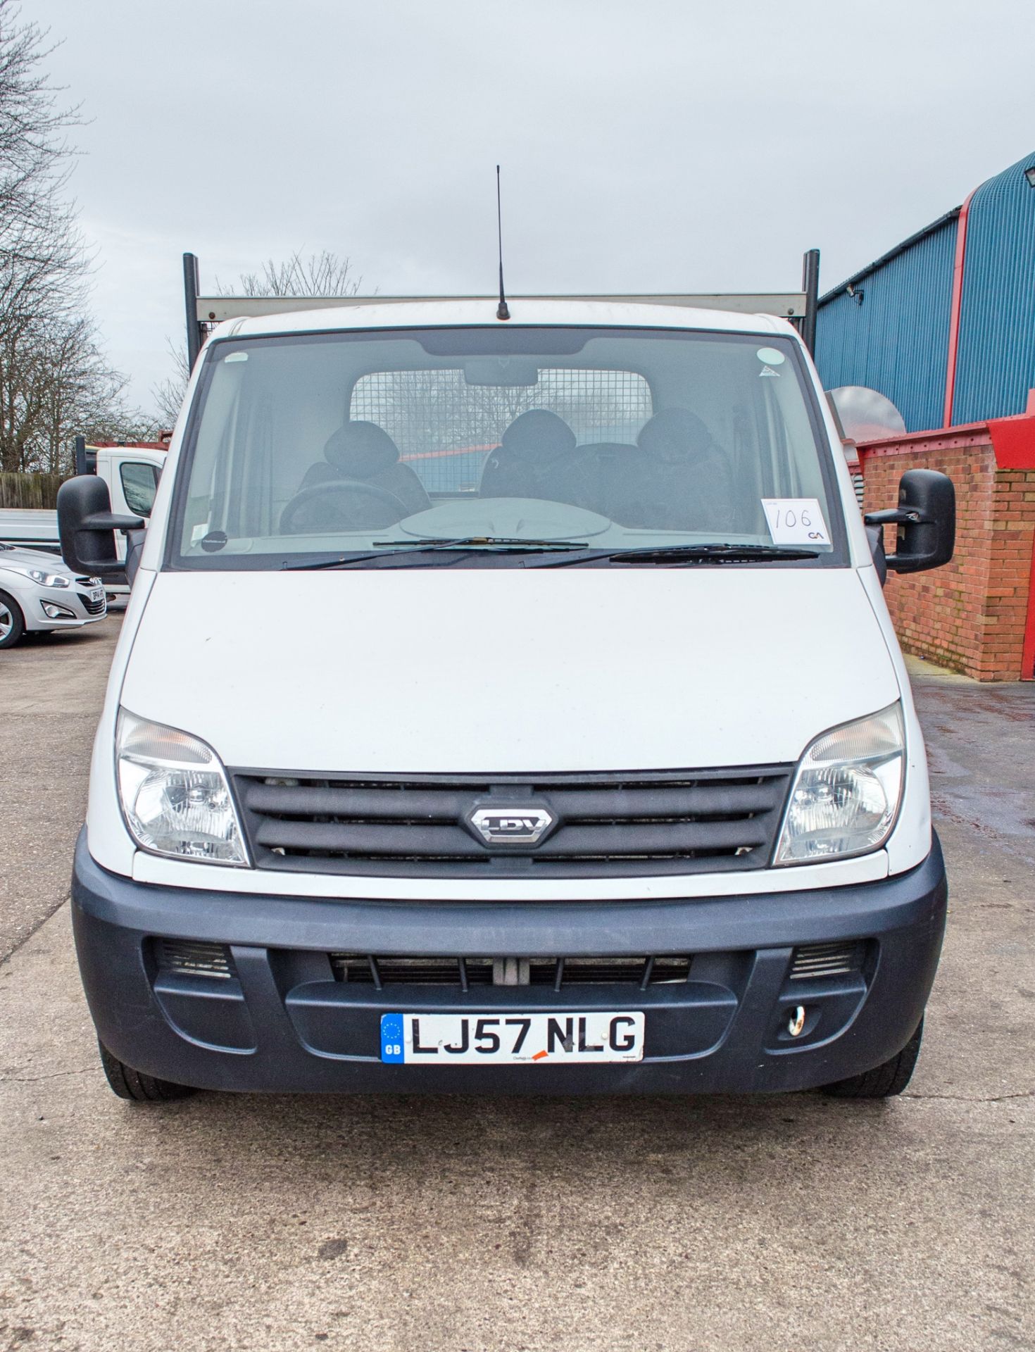
[[[513,300],[220,324],[146,537],[76,852],[116,1094],[884,1096],[946,879],[881,584],[796,331]],[[897,549],[884,556],[884,523]]]

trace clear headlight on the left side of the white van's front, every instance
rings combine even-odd
[[[199,737],[119,710],[119,799],[130,834],[153,854],[247,864],[227,773]]]

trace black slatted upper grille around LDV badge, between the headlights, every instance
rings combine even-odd
[[[234,773],[258,868],[615,877],[765,868],[792,767],[380,779]],[[478,818],[546,823],[486,841]],[[528,837],[531,831],[526,833]]]

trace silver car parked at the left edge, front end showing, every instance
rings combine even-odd
[[[0,648],[26,633],[80,629],[104,619],[99,577],[80,577],[54,554],[0,545]]]

